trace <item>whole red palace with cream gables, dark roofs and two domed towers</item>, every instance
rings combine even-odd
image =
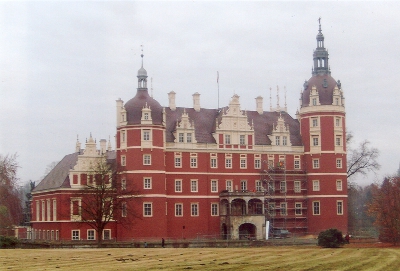
[[[286,108],[161,106],[138,71],[136,96],[117,106],[116,148],[92,136],[79,141],[37,185],[32,195],[32,238],[95,240],[79,221],[88,165],[106,153],[118,164],[129,201],[120,215],[127,225],[107,224],[103,239],[266,239],[274,230],[318,234],[347,232],[345,104],[340,81],[331,77],[321,25],[313,53],[312,77],[304,82],[295,118]],[[267,234],[268,233],[268,234]]]

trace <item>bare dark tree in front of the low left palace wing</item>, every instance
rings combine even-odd
[[[80,192],[80,220],[97,232],[97,242],[102,244],[102,233],[110,222],[125,225],[134,217],[130,212],[129,220],[127,202],[133,200],[137,193],[126,190],[121,184],[116,164],[107,162],[103,157],[88,172],[85,187]]]

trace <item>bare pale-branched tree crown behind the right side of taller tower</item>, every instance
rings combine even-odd
[[[353,135],[351,133],[346,135],[346,141],[349,143]],[[369,172],[376,173],[381,165],[377,159],[379,157],[379,150],[370,146],[368,140],[360,143],[357,149],[350,149],[347,156],[347,178],[355,175],[366,175]]]

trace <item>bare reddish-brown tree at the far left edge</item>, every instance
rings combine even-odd
[[[19,224],[22,220],[18,168],[17,154],[0,155],[0,228],[3,231]]]

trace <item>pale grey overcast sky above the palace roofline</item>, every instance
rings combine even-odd
[[[311,77],[321,17],[332,76],[342,82],[347,128],[380,152],[377,177],[399,167],[399,2],[1,2],[0,153],[18,153],[22,182],[74,152],[90,133],[113,148],[115,100],[136,93],[140,45],[153,96],[168,105],[242,109],[276,86],[294,117]],[[150,80],[149,80],[150,81]],[[149,84],[150,85],[150,84]],[[355,180],[354,180],[355,181]]]

